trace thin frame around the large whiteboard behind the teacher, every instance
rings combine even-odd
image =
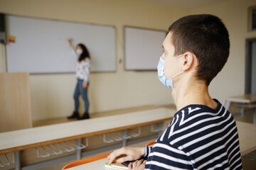
[[[99,23],[86,23],[86,22],[80,22],[80,21],[70,21],[70,20],[63,20],[63,19],[57,19],[57,18],[43,18],[43,17],[33,17],[33,16],[23,16],[23,15],[15,15],[11,13],[4,13],[5,22],[6,22],[6,16],[15,16],[15,17],[23,17],[23,18],[33,18],[38,20],[48,20],[48,21],[58,21],[58,22],[68,22],[68,23],[80,23],[80,24],[86,24],[90,26],[106,26],[114,28],[114,71],[90,71],[90,73],[115,73],[117,72],[117,27],[113,25],[107,25],[107,24],[99,24]],[[9,35],[9,28],[7,28],[8,24],[6,24],[6,36]],[[5,51],[6,51],[6,72],[9,72],[8,69],[8,57],[7,57],[7,50],[6,45],[10,43],[9,39],[7,38],[6,44],[5,44]],[[29,72],[29,74],[74,74],[74,72]]]

